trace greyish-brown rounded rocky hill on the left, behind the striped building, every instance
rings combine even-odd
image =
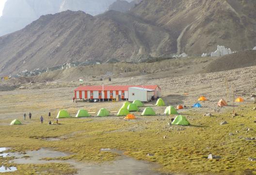
[[[54,67],[71,61],[141,61],[171,54],[169,33],[133,15],[109,11],[92,16],[65,11],[45,15],[0,37],[0,75]]]

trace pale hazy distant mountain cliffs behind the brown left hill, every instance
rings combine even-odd
[[[66,10],[104,13],[115,0],[7,0],[0,17],[0,36],[22,29],[41,15]]]

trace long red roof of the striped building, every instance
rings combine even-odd
[[[104,90],[125,90],[128,91],[129,87],[143,87],[143,88],[147,88],[147,89],[153,89],[155,90],[158,85],[126,85],[126,86],[80,86],[78,88],[75,89],[75,91],[79,91],[79,90],[102,90],[102,88]]]

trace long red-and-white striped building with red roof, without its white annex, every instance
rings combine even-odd
[[[154,96],[160,96],[161,88],[158,85],[126,85],[126,86],[80,86],[76,88],[76,100],[113,100],[118,95],[122,100],[128,100],[128,88],[141,87],[154,90]]]

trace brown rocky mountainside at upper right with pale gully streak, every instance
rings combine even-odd
[[[178,53],[189,55],[256,45],[256,0],[143,0],[132,11],[167,29]]]

